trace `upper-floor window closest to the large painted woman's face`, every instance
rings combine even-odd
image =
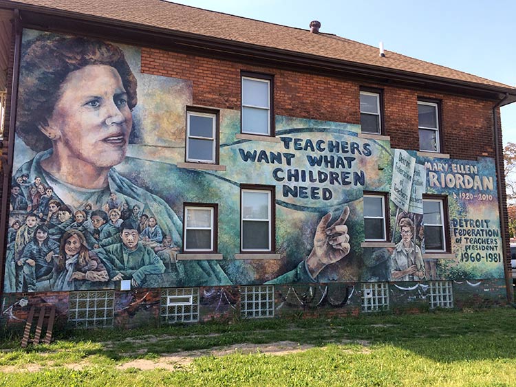
[[[186,161],[217,162],[217,114],[186,111]]]

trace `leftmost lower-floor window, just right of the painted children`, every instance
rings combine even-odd
[[[184,207],[184,252],[215,251],[215,207]]]

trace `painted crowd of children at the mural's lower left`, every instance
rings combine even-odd
[[[158,219],[116,192],[102,208],[75,211],[40,177],[17,177],[11,193],[5,291],[105,289],[122,279],[138,287],[175,261],[178,247]]]

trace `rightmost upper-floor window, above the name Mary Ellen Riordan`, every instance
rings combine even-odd
[[[439,105],[418,101],[419,149],[440,152]]]

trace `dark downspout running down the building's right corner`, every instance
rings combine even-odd
[[[496,110],[499,108],[499,106],[504,103],[504,101],[508,98],[509,94],[505,93],[504,98],[500,99],[495,106],[493,106],[493,130],[495,131],[495,166],[496,166],[496,178],[497,178],[497,190],[498,190],[498,212],[499,212],[499,219],[500,219],[500,230],[502,230],[502,252],[504,257],[504,274],[505,274],[505,287],[506,287],[506,293],[507,293],[507,301],[509,303],[512,303],[514,300],[514,293],[513,293],[513,281],[512,281],[512,275],[508,271],[507,267],[507,243],[506,240],[506,224],[505,224],[505,217],[504,214],[507,211],[507,208],[504,208],[504,203],[502,200],[502,195],[504,194],[502,190],[502,170],[500,169],[500,161],[503,165],[503,153],[500,151],[499,148],[499,133],[498,133],[498,116],[496,113]],[[500,158],[500,154],[502,154],[502,158]]]

